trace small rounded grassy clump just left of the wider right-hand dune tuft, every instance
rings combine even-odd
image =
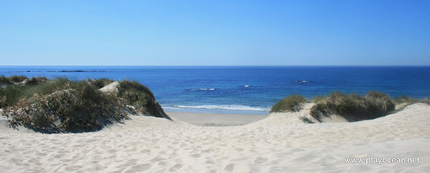
[[[270,112],[297,112],[301,110],[305,102],[307,102],[307,99],[301,95],[289,95],[273,105]]]

